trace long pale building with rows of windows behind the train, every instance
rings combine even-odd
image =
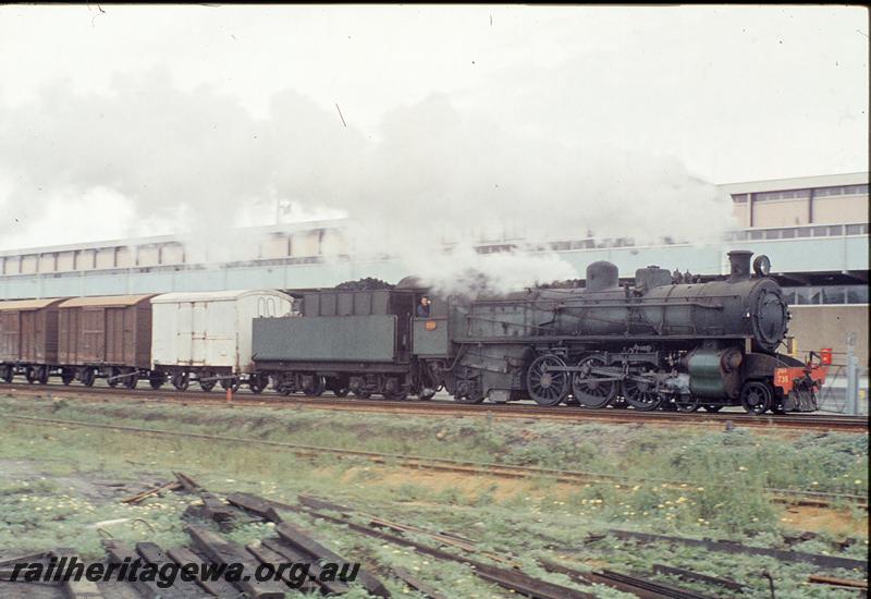
[[[556,252],[580,273],[591,261],[609,260],[625,280],[648,265],[710,279],[728,272],[732,249],[765,254],[792,306],[796,351],[832,347],[836,357],[845,356],[850,341],[867,365],[868,182],[869,173],[860,172],[721,185],[739,227],[729,239],[706,246],[579,235],[531,246],[481,240],[477,249]],[[389,256],[348,255],[346,224],[340,219],[253,229],[250,239],[261,241],[256,256],[244,261],[209,260],[174,236],[0,250],[0,300],[312,289],[364,277],[395,283],[413,274]]]

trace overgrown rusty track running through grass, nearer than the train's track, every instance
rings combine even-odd
[[[585,470],[571,470],[557,468],[543,468],[537,466],[519,466],[513,464],[498,464],[487,462],[475,462],[466,460],[453,460],[444,457],[427,457],[418,455],[404,455],[398,453],[382,453],[373,451],[361,451],[346,448],[330,448],[321,445],[308,445],[302,443],[289,443],[284,441],[268,441],[263,439],[252,439],[245,437],[230,437],[224,435],[209,435],[201,432],[182,432],[172,430],[161,430],[154,428],[131,427],[121,425],[103,425],[81,420],[68,420],[61,418],[42,418],[36,416],[15,416],[5,415],[8,421],[20,421],[24,424],[42,426],[66,426],[79,428],[95,428],[115,432],[156,436],[168,438],[185,438],[224,443],[238,443],[244,445],[263,445],[275,449],[291,451],[297,455],[306,457],[318,457],[321,455],[334,455],[338,457],[355,457],[367,460],[377,464],[396,465],[407,468],[427,469],[436,472],[449,472],[456,474],[467,474],[474,476],[491,476],[496,478],[550,478],[563,484],[591,485],[608,484],[617,487],[625,486],[627,489],[638,484],[655,484],[661,487],[673,488],[675,490],[696,487],[691,481],[674,480],[655,477],[633,477],[610,473],[596,473]],[[716,485],[707,485],[716,488]],[[721,487],[725,487],[722,485]],[[801,489],[774,489],[762,488],[762,492],[778,503],[793,505],[814,505],[821,508],[832,506],[838,503],[847,503],[857,508],[868,509],[868,498],[862,494],[807,491]]]

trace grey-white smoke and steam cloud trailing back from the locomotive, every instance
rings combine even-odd
[[[58,82],[0,111],[0,243],[175,233],[189,259],[248,259],[261,240],[234,228],[274,222],[283,200],[347,215],[354,255],[398,257],[445,291],[474,271],[508,291],[578,273],[552,253],[482,256],[476,243],[588,232],[701,243],[732,225],[728,199],[678,158],[581,130],[517,126],[443,95],[391,111],[377,135],[345,119],[293,90],[258,119],[164,70],[119,76],[108,95]]]

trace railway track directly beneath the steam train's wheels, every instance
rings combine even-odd
[[[78,398],[84,400],[106,400],[107,396],[122,400],[165,401],[194,403],[205,405],[226,405],[220,392],[121,389],[110,387],[73,387],[61,384],[0,384],[0,393],[9,395]],[[520,418],[561,421],[602,421],[646,425],[695,425],[723,427],[726,423],[733,426],[762,427],[801,430],[827,430],[839,432],[868,432],[869,419],[866,416],[839,416],[821,414],[784,414],[755,416],[740,412],[722,413],[675,413],[675,412],[637,412],[635,409],[587,409],[574,406],[541,407],[533,404],[459,404],[451,400],[440,401],[389,401],[360,400],[322,395],[256,395],[249,392],[233,394],[234,405],[256,405],[260,407],[310,407],[317,409],[339,409],[368,413],[389,413],[432,416],[483,416],[489,418]]]

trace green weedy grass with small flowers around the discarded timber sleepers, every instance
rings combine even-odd
[[[324,455],[311,461],[257,444],[23,424],[4,420],[7,414],[619,473],[691,485],[675,488],[642,481],[571,488],[547,477],[475,485],[468,485],[468,477],[457,477],[455,482],[441,477],[433,484],[408,470],[363,460]],[[536,558],[547,557],[581,570],[609,564],[621,572],[648,574],[653,563],[665,563],[734,577],[751,586],[750,596],[766,596],[768,583],[760,572],[768,569],[775,576],[778,598],[843,597],[839,590],[803,585],[801,582],[814,571],[812,566],[777,564],[756,557],[700,554],[692,548],[637,546],[613,538],[587,539],[609,528],[629,528],[784,547],[783,510],[772,504],[761,488],[867,493],[867,468],[868,438],[860,435],[726,433],[476,418],[400,419],[316,409],[204,409],[2,399],[0,475],[7,477],[0,478],[0,554],[69,546],[97,557],[101,553],[101,533],[95,523],[123,518],[102,528],[113,538],[130,542],[152,540],[167,547],[185,543],[187,535],[180,516],[189,498],[168,493],[128,506],[119,503],[116,497],[87,497],[81,488],[82,481],[96,478],[151,484],[168,479],[172,470],[182,470],[216,492],[249,491],[291,503],[298,494],[312,494],[398,522],[454,531],[475,539],[482,549],[515,555],[525,571],[559,584],[567,579],[543,573]],[[340,554],[359,559],[382,577],[390,566],[400,565],[449,596],[508,596],[474,577],[461,564],[426,559],[308,516],[285,515]],[[867,531],[857,528],[855,533],[862,540],[846,555],[864,559]],[[268,535],[268,526],[248,524],[230,536],[249,542]],[[836,537],[823,535],[800,549],[831,552],[829,543]],[[425,537],[418,540],[432,542]],[[711,594],[711,588],[671,582]],[[405,592],[401,583],[392,580],[390,585],[397,595]],[[613,590],[597,592],[621,596]],[[735,596],[728,592],[723,590],[721,596]]]

